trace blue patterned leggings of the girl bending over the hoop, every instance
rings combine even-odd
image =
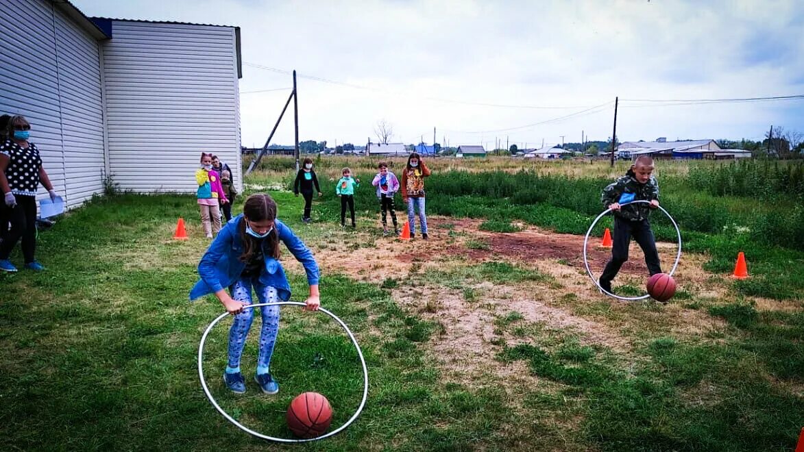
[[[255,278],[240,278],[232,287],[232,298],[245,304],[252,303],[251,289],[254,287],[256,299],[260,303],[275,303],[279,301],[276,287],[266,287],[260,284]],[[260,352],[257,356],[257,365],[268,368],[271,364],[273,346],[277,342],[277,332],[279,332],[279,307],[262,306],[262,328],[260,329]],[[244,309],[243,312],[235,316],[232,322],[232,329],[229,330],[229,367],[240,367],[240,356],[243,354],[243,347],[254,320],[254,310]]]

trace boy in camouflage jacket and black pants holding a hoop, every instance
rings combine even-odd
[[[645,263],[650,275],[662,273],[656,250],[656,239],[653,230],[650,230],[650,210],[658,207],[658,182],[652,175],[653,170],[652,158],[637,157],[626,175],[606,186],[601,194],[603,206],[606,209],[612,209],[614,213],[611,260],[605,264],[599,280],[600,286],[609,294],[613,294],[611,291],[612,279],[617,276],[622,264],[628,260],[631,236],[645,253]],[[638,200],[650,201],[650,204],[640,202],[621,206],[621,204]]]

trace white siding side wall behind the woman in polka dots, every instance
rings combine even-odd
[[[76,206],[102,189],[97,43],[51,2],[0,0],[0,10],[0,114],[31,122],[47,175]]]

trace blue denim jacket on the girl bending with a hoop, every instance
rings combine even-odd
[[[240,255],[243,254],[243,242],[240,240],[237,226],[242,218],[243,214],[240,214],[229,220],[207,252],[204,253],[199,263],[201,280],[195,283],[190,291],[191,300],[230,287],[240,278],[245,263],[240,262]],[[304,265],[307,282],[311,286],[318,284],[318,264],[310,249],[301,242],[296,234],[293,234],[288,226],[285,226],[285,223],[278,219],[274,222],[272,234],[279,234],[279,240],[284,242],[293,256]],[[277,259],[271,257],[268,251],[265,252],[265,268],[260,272],[260,283],[276,287],[282,301],[290,299],[290,285],[285,276],[285,269]]]

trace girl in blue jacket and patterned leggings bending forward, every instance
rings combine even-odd
[[[277,203],[267,194],[252,194],[246,199],[243,214],[232,218],[215,238],[201,258],[201,280],[190,292],[190,299],[214,293],[226,310],[235,316],[229,331],[229,360],[224,381],[235,393],[244,393],[245,380],[240,373],[240,355],[243,353],[248,329],[254,320],[253,309],[244,309],[252,303],[252,287],[259,303],[273,303],[290,298],[290,285],[279,263],[279,242],[304,265],[310,296],[306,310],[315,311],[321,304],[318,295],[318,264],[313,253],[293,234],[288,226],[277,219]],[[226,291],[229,287],[232,295]],[[269,372],[273,345],[279,330],[279,307],[260,307],[260,352],[257,356],[255,381],[264,393],[279,392],[279,385]]]

